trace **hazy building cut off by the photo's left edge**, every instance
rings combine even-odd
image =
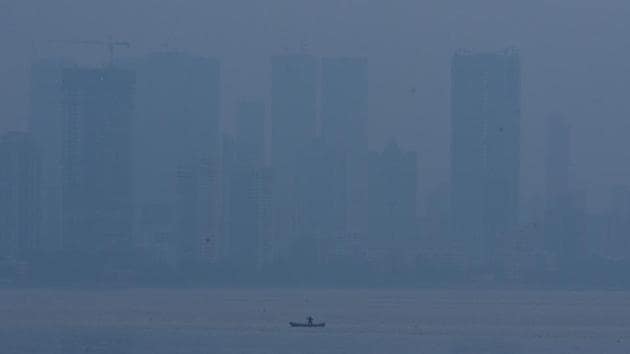
[[[24,259],[40,249],[41,159],[28,133],[0,140],[0,256]]]

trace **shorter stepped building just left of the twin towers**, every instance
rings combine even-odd
[[[223,149],[225,253],[232,266],[244,271],[259,268],[271,252],[264,122],[264,104],[241,102],[236,137],[226,137]]]

